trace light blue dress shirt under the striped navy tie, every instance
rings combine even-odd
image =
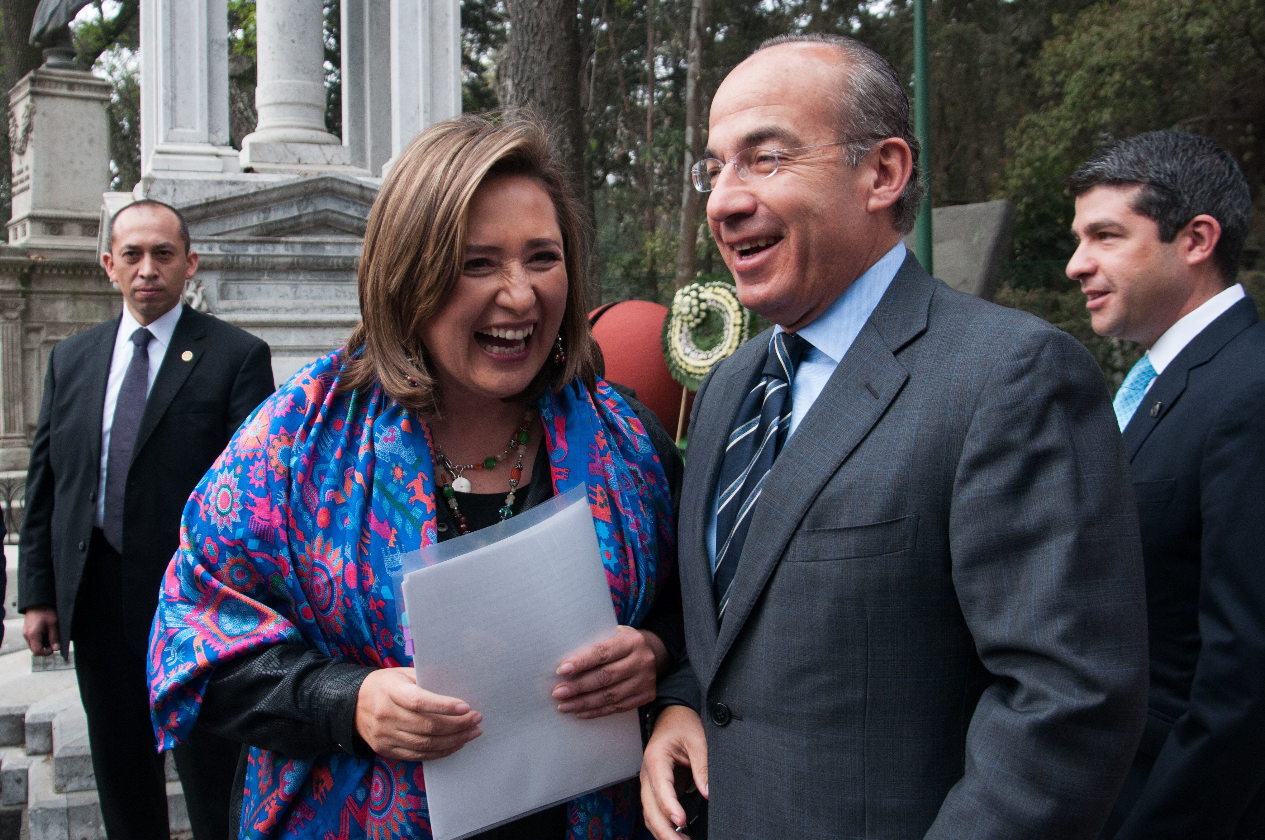
[[[830,381],[835,368],[848,354],[848,348],[860,335],[865,321],[874,314],[874,307],[883,299],[887,287],[892,285],[896,272],[901,269],[904,256],[904,243],[896,243],[892,250],[883,254],[877,263],[845,288],[844,293],[836,297],[825,312],[799,330],[799,337],[807,339],[812,347],[805,352],[799,367],[796,368],[794,382],[791,383],[792,435],[799,428],[803,416],[808,414],[808,409],[821,396],[826,382]],[[781,326],[774,326],[773,330],[774,333],[784,331]],[[707,515],[707,557],[713,567],[716,564],[717,495],[719,490],[713,490],[711,512]]]

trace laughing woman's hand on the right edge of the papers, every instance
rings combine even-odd
[[[620,626],[606,641],[568,657],[558,665],[554,687],[558,711],[577,717],[605,717],[644,706],[655,697],[659,669],[668,649],[649,630]]]

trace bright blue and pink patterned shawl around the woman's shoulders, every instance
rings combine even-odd
[[[381,387],[335,396],[340,354],[259,406],[185,507],[149,640],[159,750],[187,738],[211,670],[244,653],[304,641],[358,664],[411,664],[390,572],[436,540],[430,430]],[[676,559],[658,454],[602,381],[538,407],[554,490],[588,486],[615,612],[636,625]],[[635,782],[576,800],[569,837],[643,835],[636,800]],[[240,836],[430,837],[421,764],[252,748]]]

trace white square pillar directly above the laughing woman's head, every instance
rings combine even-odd
[[[460,40],[460,0],[391,0],[392,161],[421,129],[462,113]]]

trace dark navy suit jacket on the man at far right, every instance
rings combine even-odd
[[[1117,805],[1117,837],[1265,837],[1265,324],[1251,297],[1155,380],[1125,448],[1151,692],[1145,786]]]

